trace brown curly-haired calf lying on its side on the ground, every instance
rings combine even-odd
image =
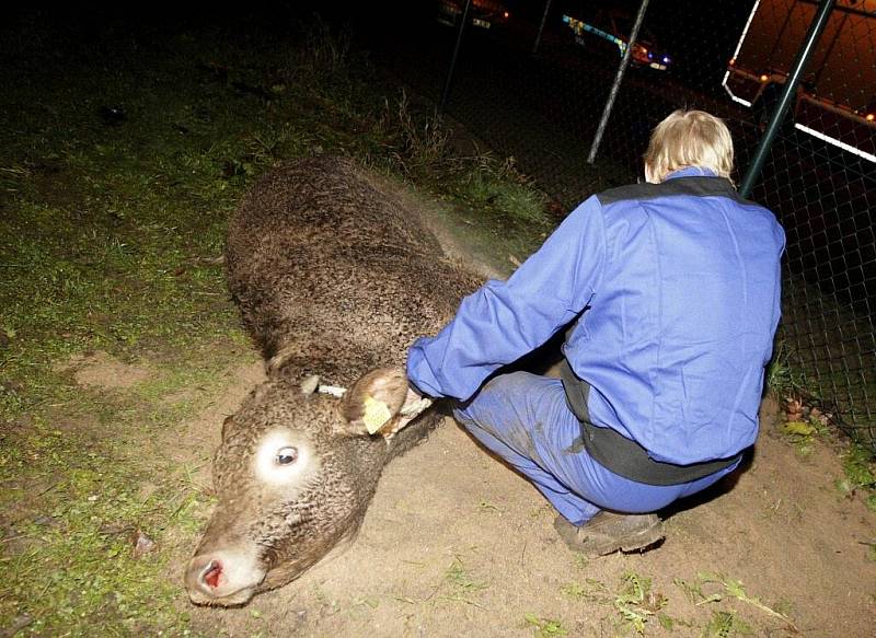
[[[406,348],[477,286],[377,179],[328,156],[253,188],[227,267],[268,379],[222,427],[218,504],[185,575],[193,602],[217,605],[286,584],[355,536],[383,465],[438,420],[410,406]],[[350,390],[313,392],[314,375]]]

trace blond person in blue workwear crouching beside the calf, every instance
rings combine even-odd
[[[737,195],[731,169],[722,120],[671,114],[652,135],[647,183],[584,201],[408,351],[415,390],[456,398],[457,418],[535,485],[578,552],[654,545],[654,512],[731,473],[754,443],[784,233]],[[561,329],[562,379],[494,375]]]

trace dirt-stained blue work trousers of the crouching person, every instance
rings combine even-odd
[[[669,486],[619,476],[584,450],[580,424],[566,405],[563,383],[528,372],[492,379],[453,414],[475,439],[529,478],[575,525],[586,523],[602,509],[654,512],[705,489],[738,465]]]

